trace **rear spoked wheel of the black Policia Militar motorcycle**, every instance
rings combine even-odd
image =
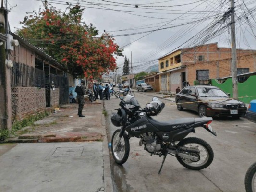
[[[190,159],[177,156],[179,163],[186,168],[192,170],[201,170],[203,168],[207,168],[213,161],[213,150],[211,146],[202,139],[196,137],[188,137],[180,141],[177,146],[194,148],[200,151],[200,153],[191,153],[192,156],[199,157],[198,161],[192,161]]]

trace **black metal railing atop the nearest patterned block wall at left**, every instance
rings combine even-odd
[[[11,68],[12,87],[45,87],[45,72],[22,63],[13,63]]]

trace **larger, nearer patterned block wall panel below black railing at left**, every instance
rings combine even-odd
[[[12,119],[22,120],[24,117],[45,111],[45,88],[15,87],[12,88]]]

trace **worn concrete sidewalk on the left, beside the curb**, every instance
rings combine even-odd
[[[113,192],[103,103],[77,112],[61,106],[0,144],[0,192]]]

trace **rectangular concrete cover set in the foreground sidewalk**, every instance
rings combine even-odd
[[[52,156],[82,156],[83,150],[84,147],[58,147]]]

